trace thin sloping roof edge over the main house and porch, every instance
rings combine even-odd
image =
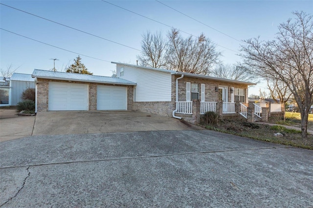
[[[143,69],[152,69],[155,71],[162,71],[162,72],[167,72],[167,73],[171,73],[171,74],[184,75],[186,77],[194,77],[194,78],[200,78],[200,79],[206,79],[206,80],[214,80],[214,81],[221,81],[221,82],[227,82],[227,83],[247,84],[247,85],[255,85],[256,84],[256,83],[241,82],[241,81],[237,81],[237,80],[229,80],[229,79],[223,79],[223,78],[217,78],[217,77],[210,77],[210,76],[206,76],[206,75],[192,74],[192,73],[180,72],[180,71],[174,71],[174,70],[168,70],[168,69],[139,66],[139,65],[133,65],[133,64],[128,64],[128,63],[119,63],[119,62],[111,62],[111,63],[126,65],[126,66],[133,66],[133,67],[138,67],[138,68],[143,68]]]

